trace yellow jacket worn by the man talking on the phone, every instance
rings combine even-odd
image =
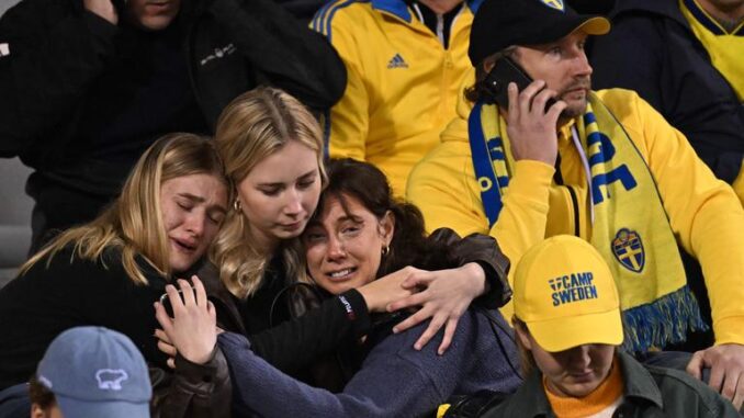
[[[744,343],[744,210],[736,195],[698,159],[685,136],[636,93],[621,89],[596,93],[649,165],[678,244],[702,266],[715,343]],[[504,207],[489,227],[467,140],[471,109],[472,104],[461,98],[458,117],[442,133],[441,144],[408,179],[407,197],[424,213],[427,229],[450,227],[461,236],[489,234],[512,267],[544,238],[572,234],[589,239],[587,182],[568,134],[571,124],[559,132],[565,185],[553,182],[553,167],[517,161],[503,197]],[[578,213],[568,187],[578,195]],[[504,309],[506,317],[512,312],[510,304]]]

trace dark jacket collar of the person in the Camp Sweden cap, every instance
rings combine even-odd
[[[651,402],[664,408],[662,393],[656,386],[651,373],[630,354],[620,351],[618,360],[622,370],[622,380],[624,384],[623,396],[625,398],[636,398],[644,402]],[[525,413],[525,417],[554,417],[553,409],[545,396],[542,386],[542,373],[530,374],[522,386],[509,399],[512,405],[518,405],[519,410]]]

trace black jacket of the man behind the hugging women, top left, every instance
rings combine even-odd
[[[183,57],[170,58],[182,78],[171,93],[193,93],[173,101],[196,104],[173,121],[160,117],[167,110],[138,114],[133,124],[143,128],[127,135],[133,124],[117,121],[116,111],[109,121],[90,115],[106,108],[136,113],[136,104],[127,106],[136,98],[127,94],[147,87],[160,56],[135,41],[158,33],[112,25],[80,0],[23,0],[8,10],[0,19],[0,44],[10,49],[0,57],[0,157],[20,156],[40,183],[111,197],[157,137],[192,127],[212,132],[223,108],[259,84],[281,88],[318,112],[343,93],[346,69],[332,47],[272,0],[184,0],[170,29]],[[149,91],[157,100],[159,90]],[[144,103],[157,111],[155,100]],[[105,128],[99,122],[119,122],[121,132],[104,144],[86,137]]]

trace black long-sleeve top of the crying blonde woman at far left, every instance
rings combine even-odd
[[[148,362],[167,369],[167,358],[154,337],[159,325],[153,304],[169,281],[142,264],[147,285],[136,285],[126,275],[116,250],[90,261],[72,258],[66,248],[48,268],[43,259],[0,290],[0,389],[27,381],[52,340],[83,325],[126,335]],[[357,306],[364,304],[358,293],[350,300]],[[339,336],[356,332],[354,326],[364,327],[367,310],[359,310],[360,320],[350,321],[340,302],[328,301],[311,315],[249,337],[256,341],[257,353],[279,369],[297,369],[318,351],[335,347]]]

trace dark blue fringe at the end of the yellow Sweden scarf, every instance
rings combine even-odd
[[[698,300],[687,285],[658,300],[623,310],[625,341],[629,352],[647,352],[669,343],[683,342],[689,331],[710,329],[700,316]]]

